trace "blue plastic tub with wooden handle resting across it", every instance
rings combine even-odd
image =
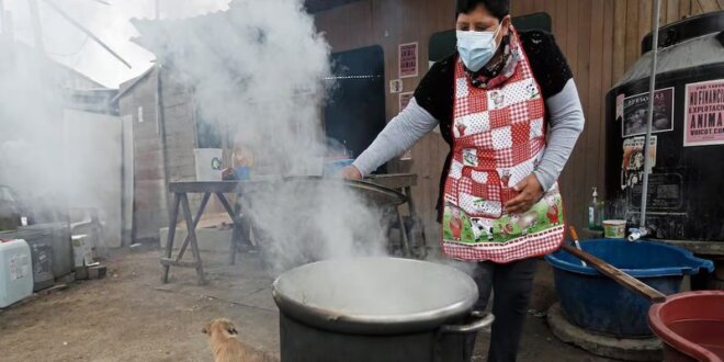
[[[683,275],[714,270],[710,260],[669,245],[623,239],[582,240],[584,251],[670,295],[678,293]],[[651,303],[643,296],[564,250],[545,257],[553,265],[555,289],[568,320],[588,330],[616,337],[646,337]]]

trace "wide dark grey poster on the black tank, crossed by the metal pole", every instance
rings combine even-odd
[[[674,88],[658,89],[654,92],[654,120],[652,133],[674,129]],[[626,97],[623,100],[623,137],[646,134],[648,113],[648,92]]]

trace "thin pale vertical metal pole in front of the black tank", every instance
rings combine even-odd
[[[653,44],[652,47],[652,73],[648,80],[648,113],[646,114],[646,137],[644,138],[644,184],[641,192],[641,229],[646,227],[646,202],[648,199],[648,152],[649,139],[652,138],[652,123],[654,122],[654,92],[656,90],[656,60],[658,57],[658,22],[660,16],[660,0],[654,0],[654,12],[652,19]],[[674,120],[671,120],[674,122]]]

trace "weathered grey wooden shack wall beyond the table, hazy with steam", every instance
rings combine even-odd
[[[121,91],[133,84],[118,101],[122,115],[133,116],[134,137],[134,218],[133,238],[157,238],[159,229],[168,226],[167,182],[195,179],[194,154],[196,145],[192,95],[170,71],[161,72],[162,104],[166,125],[163,147],[161,125],[157,120],[157,82],[155,69],[139,82],[131,80]],[[166,165],[165,165],[166,157]],[[168,174],[167,174],[168,172]],[[168,178],[167,178],[168,176]],[[200,195],[190,195],[192,207]],[[220,211],[215,201],[208,210]]]

